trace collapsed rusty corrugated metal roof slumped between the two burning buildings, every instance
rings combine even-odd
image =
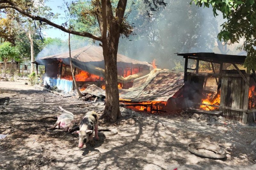
[[[119,89],[120,100],[167,101],[184,85],[183,76],[179,71],[154,69],[148,75],[135,79],[131,88]],[[105,91],[96,85],[88,86],[84,92],[105,96]]]

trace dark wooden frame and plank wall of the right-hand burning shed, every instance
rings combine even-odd
[[[250,88],[250,78],[253,78],[256,82],[256,73],[255,70],[252,70],[251,75],[250,70],[247,70],[246,72],[244,70],[239,70],[236,65],[243,64],[246,56],[215,53],[178,53],[177,55],[185,58],[185,85],[187,81],[190,81],[188,76],[204,77],[204,84],[206,84],[207,78],[215,78],[218,87],[221,85],[220,106],[216,107],[220,108],[220,110],[223,111],[223,115],[228,118],[235,118],[243,123],[253,122],[253,114],[256,112],[256,109],[248,109],[248,93]],[[195,69],[188,68],[188,59],[196,60]],[[210,62],[213,73],[198,73],[199,61]],[[219,73],[216,73],[214,70],[213,63],[220,64]],[[236,70],[222,70],[223,63],[231,63]],[[188,70],[195,70],[196,73],[189,72]],[[217,78],[219,78],[219,80]],[[206,106],[209,105],[198,102],[194,102],[194,104]],[[215,107],[215,105],[211,106]]]

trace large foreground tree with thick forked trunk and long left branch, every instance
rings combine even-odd
[[[164,0],[144,0],[150,6],[151,11],[156,11],[159,6],[165,6]],[[73,2],[76,4],[76,2]],[[115,5],[115,7],[113,7]],[[124,14],[127,5],[127,0],[119,0],[113,3],[111,0],[92,0],[91,8],[86,11],[81,11],[79,14],[84,19],[94,17],[100,30],[100,36],[93,35],[88,31],[76,31],[71,26],[58,25],[53,23],[48,18],[39,16],[33,11],[28,10],[25,5],[17,0],[0,0],[0,9],[14,9],[22,15],[33,20],[46,23],[50,26],[58,28],[66,33],[75,34],[92,38],[95,41],[100,41],[103,49],[105,61],[105,85],[106,85],[106,105],[102,118],[104,121],[116,122],[116,119],[121,115],[119,109],[119,92],[117,87],[117,50],[120,35],[128,35],[132,32],[132,26],[126,22]]]

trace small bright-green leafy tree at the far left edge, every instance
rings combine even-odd
[[[0,60],[4,62],[4,77],[6,76],[7,62],[10,60],[17,61],[19,53],[19,50],[12,47],[10,42],[4,42],[0,45]]]

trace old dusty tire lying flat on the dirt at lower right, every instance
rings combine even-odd
[[[213,153],[199,152],[198,149],[206,149],[215,153],[213,154]],[[206,144],[206,143],[188,144],[188,151],[191,153],[194,153],[197,156],[201,156],[204,158],[223,159],[227,157],[225,149],[213,144]]]

